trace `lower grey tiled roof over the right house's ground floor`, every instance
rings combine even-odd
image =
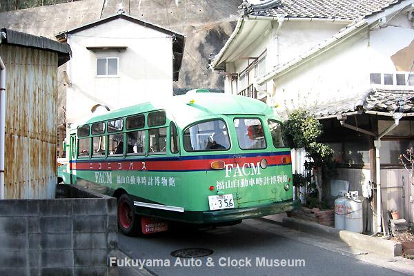
[[[316,117],[331,117],[346,112],[363,112],[364,110],[414,112],[414,90],[370,89],[359,95],[320,103],[310,111]]]

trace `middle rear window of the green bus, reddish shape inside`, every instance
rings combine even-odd
[[[266,148],[262,122],[256,118],[235,119],[239,147],[242,150]]]

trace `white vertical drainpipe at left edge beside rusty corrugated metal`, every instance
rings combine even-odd
[[[6,34],[0,32],[1,39]],[[0,57],[0,199],[4,199],[4,137],[6,136],[6,66]]]

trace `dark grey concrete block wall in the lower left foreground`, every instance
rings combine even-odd
[[[60,197],[91,198],[0,201],[0,275],[115,273],[108,258],[117,250],[117,200],[65,186]]]

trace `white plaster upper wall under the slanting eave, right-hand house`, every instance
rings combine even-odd
[[[371,72],[395,72],[391,56],[413,39],[413,28],[406,28],[405,24],[356,34],[304,66],[269,81],[276,87],[275,102],[282,111],[286,105],[313,106],[360,95],[371,87]]]

